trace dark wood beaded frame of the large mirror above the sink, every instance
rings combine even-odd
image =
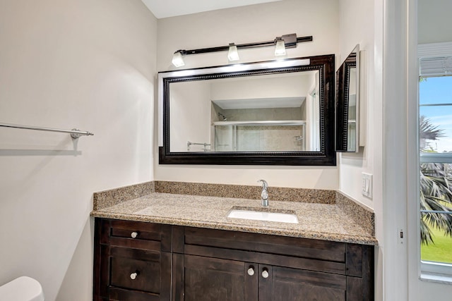
[[[335,56],[308,56],[291,60],[309,59],[309,65],[276,68],[249,68],[246,71],[211,73],[211,68],[197,68],[196,75],[170,76],[174,71],[159,73],[159,93],[162,106],[162,146],[159,164],[213,164],[213,165],[280,165],[280,166],[335,166]],[[273,62],[273,61],[271,61]],[[264,63],[264,62],[261,62]],[[250,65],[256,63],[242,64]],[[202,70],[206,70],[203,74]],[[299,71],[319,71],[320,151],[319,152],[169,152],[169,85],[171,82],[233,78],[258,74],[278,74]],[[184,70],[190,71],[190,70]],[[201,71],[201,73],[200,73]],[[166,73],[166,74],[165,74]],[[183,74],[189,74],[184,72]]]

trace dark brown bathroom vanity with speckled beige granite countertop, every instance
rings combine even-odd
[[[258,209],[258,199],[110,195],[120,201],[95,204],[92,213],[93,300],[374,298],[377,242],[365,214],[362,225],[353,221],[341,197],[319,204],[270,196],[266,210],[295,212],[299,220],[283,223],[227,217],[232,208]]]

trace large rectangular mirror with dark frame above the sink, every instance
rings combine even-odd
[[[159,73],[160,164],[335,165],[334,55]]]

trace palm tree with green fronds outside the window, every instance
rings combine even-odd
[[[432,125],[429,119],[420,116],[420,147],[423,152],[434,152],[430,141],[444,137],[444,130]],[[434,243],[433,226],[445,235],[452,237],[452,166],[451,164],[422,163],[420,166],[420,207],[421,242],[429,245]],[[438,213],[431,211],[451,212]]]

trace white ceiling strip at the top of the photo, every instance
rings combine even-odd
[[[157,19],[282,0],[141,0]]]

